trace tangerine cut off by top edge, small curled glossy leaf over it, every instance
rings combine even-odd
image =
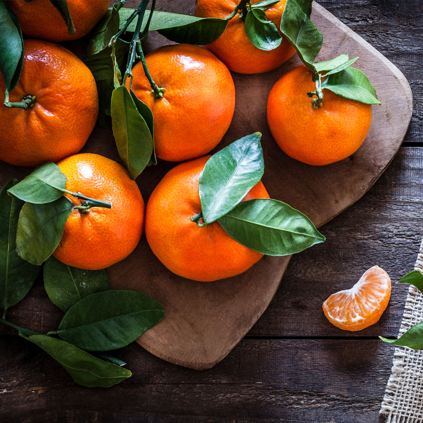
[[[258,3],[253,0],[251,3]],[[226,18],[239,4],[239,0],[196,0],[195,16]],[[280,32],[280,20],[286,0],[265,9],[266,19],[272,21]],[[231,71],[241,74],[258,74],[271,71],[286,62],[295,53],[295,48],[282,36],[281,44],[273,50],[261,50],[251,44],[245,34],[245,16],[238,11],[222,35],[206,48],[217,55]],[[281,33],[282,35],[282,33]]]

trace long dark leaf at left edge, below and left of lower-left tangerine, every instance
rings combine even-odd
[[[11,179],[0,191],[0,308],[6,310],[25,297],[40,271],[16,253],[16,229],[24,202],[7,195],[16,182]]]

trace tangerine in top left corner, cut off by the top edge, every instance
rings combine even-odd
[[[8,0],[22,32],[47,41],[67,41],[87,35],[104,16],[110,0],[66,0],[75,33],[70,35],[59,11],[47,0]]]

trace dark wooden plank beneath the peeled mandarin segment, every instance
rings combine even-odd
[[[423,148],[401,148],[363,198],[320,228],[324,244],[294,255],[282,283],[249,336],[396,336],[408,285],[396,285],[414,268],[423,236]],[[330,324],[321,309],[330,294],[350,288],[378,264],[393,282],[380,321],[358,332]]]

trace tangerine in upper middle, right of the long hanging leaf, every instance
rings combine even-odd
[[[132,88],[153,113],[156,156],[179,162],[208,153],[225,135],[235,109],[228,68],[205,48],[189,44],[154,50],[146,63],[163,97],[154,97],[140,62],[132,69]]]

